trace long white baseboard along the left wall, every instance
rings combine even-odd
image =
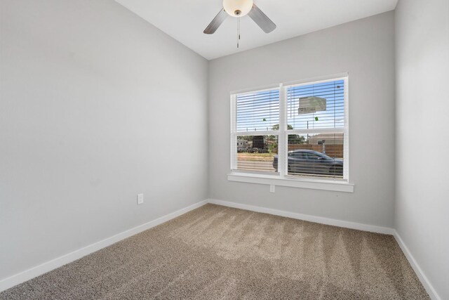
[[[172,212],[171,214],[167,214],[165,216],[161,216],[153,221],[149,221],[148,223],[142,224],[135,228],[131,228],[129,230],[123,231],[122,233],[113,235],[112,237],[107,237],[105,240],[100,240],[99,242],[95,242],[94,244],[90,244],[81,249],[75,250],[74,252],[70,252],[68,254],[62,255],[56,259],[52,259],[51,261],[47,261],[45,263],[41,263],[39,266],[35,266],[33,268],[29,268],[28,270],[24,270],[18,274],[12,275],[11,277],[4,278],[0,280],[0,292],[5,289],[9,289],[15,285],[18,285],[22,282],[35,278],[36,276],[47,273],[55,268],[59,268],[60,266],[64,266],[67,263],[71,263],[72,261],[76,261],[76,259],[81,259],[81,257],[91,254],[95,251],[98,251],[102,248],[105,248],[111,244],[119,242],[126,237],[130,237],[137,233],[141,233],[149,228],[153,228],[154,226],[158,226],[161,223],[169,221],[171,219],[176,218],[182,214],[185,214],[193,209],[203,206],[208,203],[207,200],[200,201],[198,203],[192,204],[189,207],[185,207],[183,209]]]

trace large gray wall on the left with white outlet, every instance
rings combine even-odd
[[[0,279],[206,199],[205,59],[112,0],[0,11]]]

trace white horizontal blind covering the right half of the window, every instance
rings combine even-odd
[[[347,178],[346,81],[286,87],[288,175]]]

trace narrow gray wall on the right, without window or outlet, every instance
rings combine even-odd
[[[449,1],[396,8],[395,227],[449,299]]]

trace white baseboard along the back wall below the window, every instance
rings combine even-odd
[[[288,218],[298,219],[298,220],[302,220],[302,221],[309,221],[309,222],[321,223],[321,224],[344,227],[344,228],[370,231],[372,233],[383,233],[386,235],[394,234],[394,229],[388,228],[388,227],[368,225],[368,224],[355,223],[355,222],[350,222],[350,221],[342,221],[342,220],[336,220],[336,219],[328,219],[328,218],[324,218],[322,216],[311,216],[308,214],[297,214],[295,212],[290,212],[290,211],[281,211],[278,209],[269,209],[266,207],[256,207],[256,206],[248,205],[248,204],[240,204],[240,203],[236,203],[236,202],[228,202],[228,201],[215,200],[215,199],[209,199],[208,202],[213,203],[213,204],[223,205],[225,207],[234,207],[236,209],[246,209],[249,211],[262,212],[264,214],[274,214],[276,216],[286,216]]]

